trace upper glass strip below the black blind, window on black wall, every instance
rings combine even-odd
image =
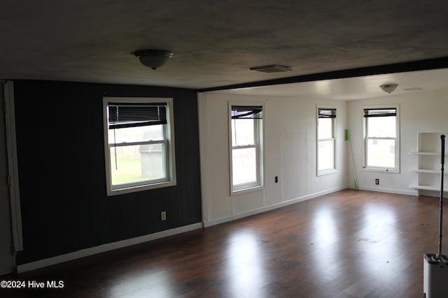
[[[163,125],[109,129],[109,144],[163,140]]]

